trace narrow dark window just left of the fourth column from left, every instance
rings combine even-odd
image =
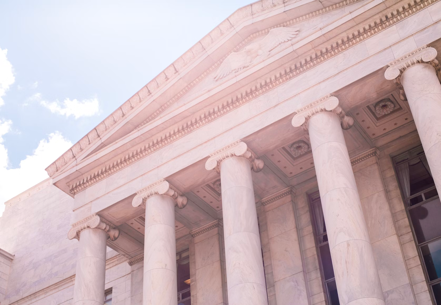
[[[329,305],[340,305],[337,286],[335,284],[334,268],[332,266],[331,251],[329,250],[328,235],[326,234],[325,218],[321,209],[320,193],[310,195],[311,216],[315,242],[318,247],[318,262],[320,264],[325,294]]]

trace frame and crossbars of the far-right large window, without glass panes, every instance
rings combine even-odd
[[[405,158],[405,159],[402,159],[406,155],[409,156],[409,157]],[[419,158],[420,156],[425,156],[425,155],[426,155],[426,152],[422,148],[422,145],[419,145],[419,146],[416,146],[416,147],[414,147],[412,149],[408,149],[405,152],[400,153],[400,154],[398,154],[396,156],[391,156],[391,161],[392,161],[392,168],[393,168],[393,171],[394,171],[394,174],[395,174],[395,179],[396,179],[396,182],[398,184],[398,189],[400,190],[400,196],[401,196],[401,199],[403,200],[404,210],[406,211],[407,221],[409,222],[409,225],[410,225],[410,228],[411,228],[411,232],[412,232],[412,237],[414,239],[415,247],[417,249],[419,261],[420,261],[420,264],[421,264],[421,267],[422,267],[422,272],[423,272],[424,278],[426,280],[426,285],[427,285],[427,287],[429,289],[430,299],[431,299],[433,304],[437,304],[436,301],[435,301],[435,296],[434,296],[434,292],[433,292],[432,286],[434,286],[434,285],[436,285],[438,283],[441,283],[441,277],[438,278],[438,279],[430,281],[429,275],[428,275],[428,272],[427,272],[427,269],[426,269],[426,262],[424,261],[424,258],[423,258],[423,255],[422,255],[421,247],[423,247],[425,245],[428,245],[431,242],[435,242],[437,240],[440,240],[441,239],[441,235],[436,237],[436,238],[432,238],[432,239],[430,239],[430,240],[428,240],[426,242],[422,242],[422,243],[419,244],[417,236],[415,234],[415,229],[414,229],[414,225],[412,223],[412,219],[411,219],[411,215],[409,213],[409,210],[411,210],[413,208],[416,208],[416,207],[419,207],[421,205],[424,205],[427,202],[433,201],[433,200],[435,200],[437,198],[440,198],[440,196],[439,196],[439,193],[438,193],[434,197],[430,197],[428,199],[425,198],[423,193],[427,193],[430,190],[436,189],[436,186],[431,186],[431,187],[429,187],[429,188],[427,188],[425,190],[422,190],[422,191],[420,191],[418,193],[415,193],[415,194],[410,195],[408,197],[404,197],[404,191],[403,191],[403,188],[402,188],[402,186],[400,184],[400,179],[398,179],[398,174],[397,174],[397,171],[396,171],[396,167],[398,165],[409,163],[412,160],[415,160],[415,159]],[[397,159],[401,159],[401,160],[397,160]],[[414,197],[418,197],[419,195],[422,195],[423,201],[421,201],[421,202],[419,202],[419,203],[417,203],[415,205],[410,205],[410,199],[414,198]],[[438,305],[441,305],[441,304],[438,304]]]

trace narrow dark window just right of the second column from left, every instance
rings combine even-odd
[[[190,252],[188,250],[176,254],[176,273],[178,278],[178,305],[191,305]]]

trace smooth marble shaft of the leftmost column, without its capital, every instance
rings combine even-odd
[[[80,233],[74,305],[104,304],[107,238],[100,229],[89,228]]]

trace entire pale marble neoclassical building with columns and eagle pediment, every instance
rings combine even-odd
[[[1,305],[441,305],[441,0],[261,0],[172,60],[5,203]]]

